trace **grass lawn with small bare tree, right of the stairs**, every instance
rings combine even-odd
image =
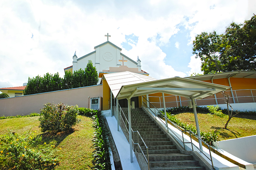
[[[196,127],[193,113],[180,113],[177,114],[176,117],[181,119],[181,122],[192,124]],[[222,122],[226,124],[225,118],[221,118],[221,122],[216,115],[197,113],[197,117],[200,131],[221,131],[219,134],[220,141],[256,135],[256,115],[237,115],[233,117],[227,125],[227,130],[222,124]]]

